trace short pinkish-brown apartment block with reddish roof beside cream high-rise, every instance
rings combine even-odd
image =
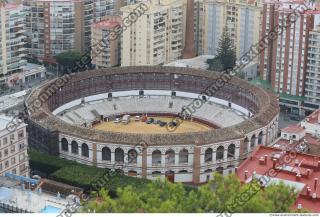
[[[119,16],[110,16],[105,20],[92,24],[92,44],[99,44],[101,41],[106,42],[101,52],[91,55],[91,62],[97,69],[120,65],[120,37],[115,40],[105,40],[110,38],[110,32],[118,25],[121,25],[121,17]]]

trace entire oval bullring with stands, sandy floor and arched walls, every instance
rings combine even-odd
[[[72,74],[58,88],[50,81],[27,99],[29,144],[87,165],[122,165],[130,176],[204,183],[214,171],[233,172],[278,131],[274,95],[238,78],[205,94],[219,76],[157,66]]]

